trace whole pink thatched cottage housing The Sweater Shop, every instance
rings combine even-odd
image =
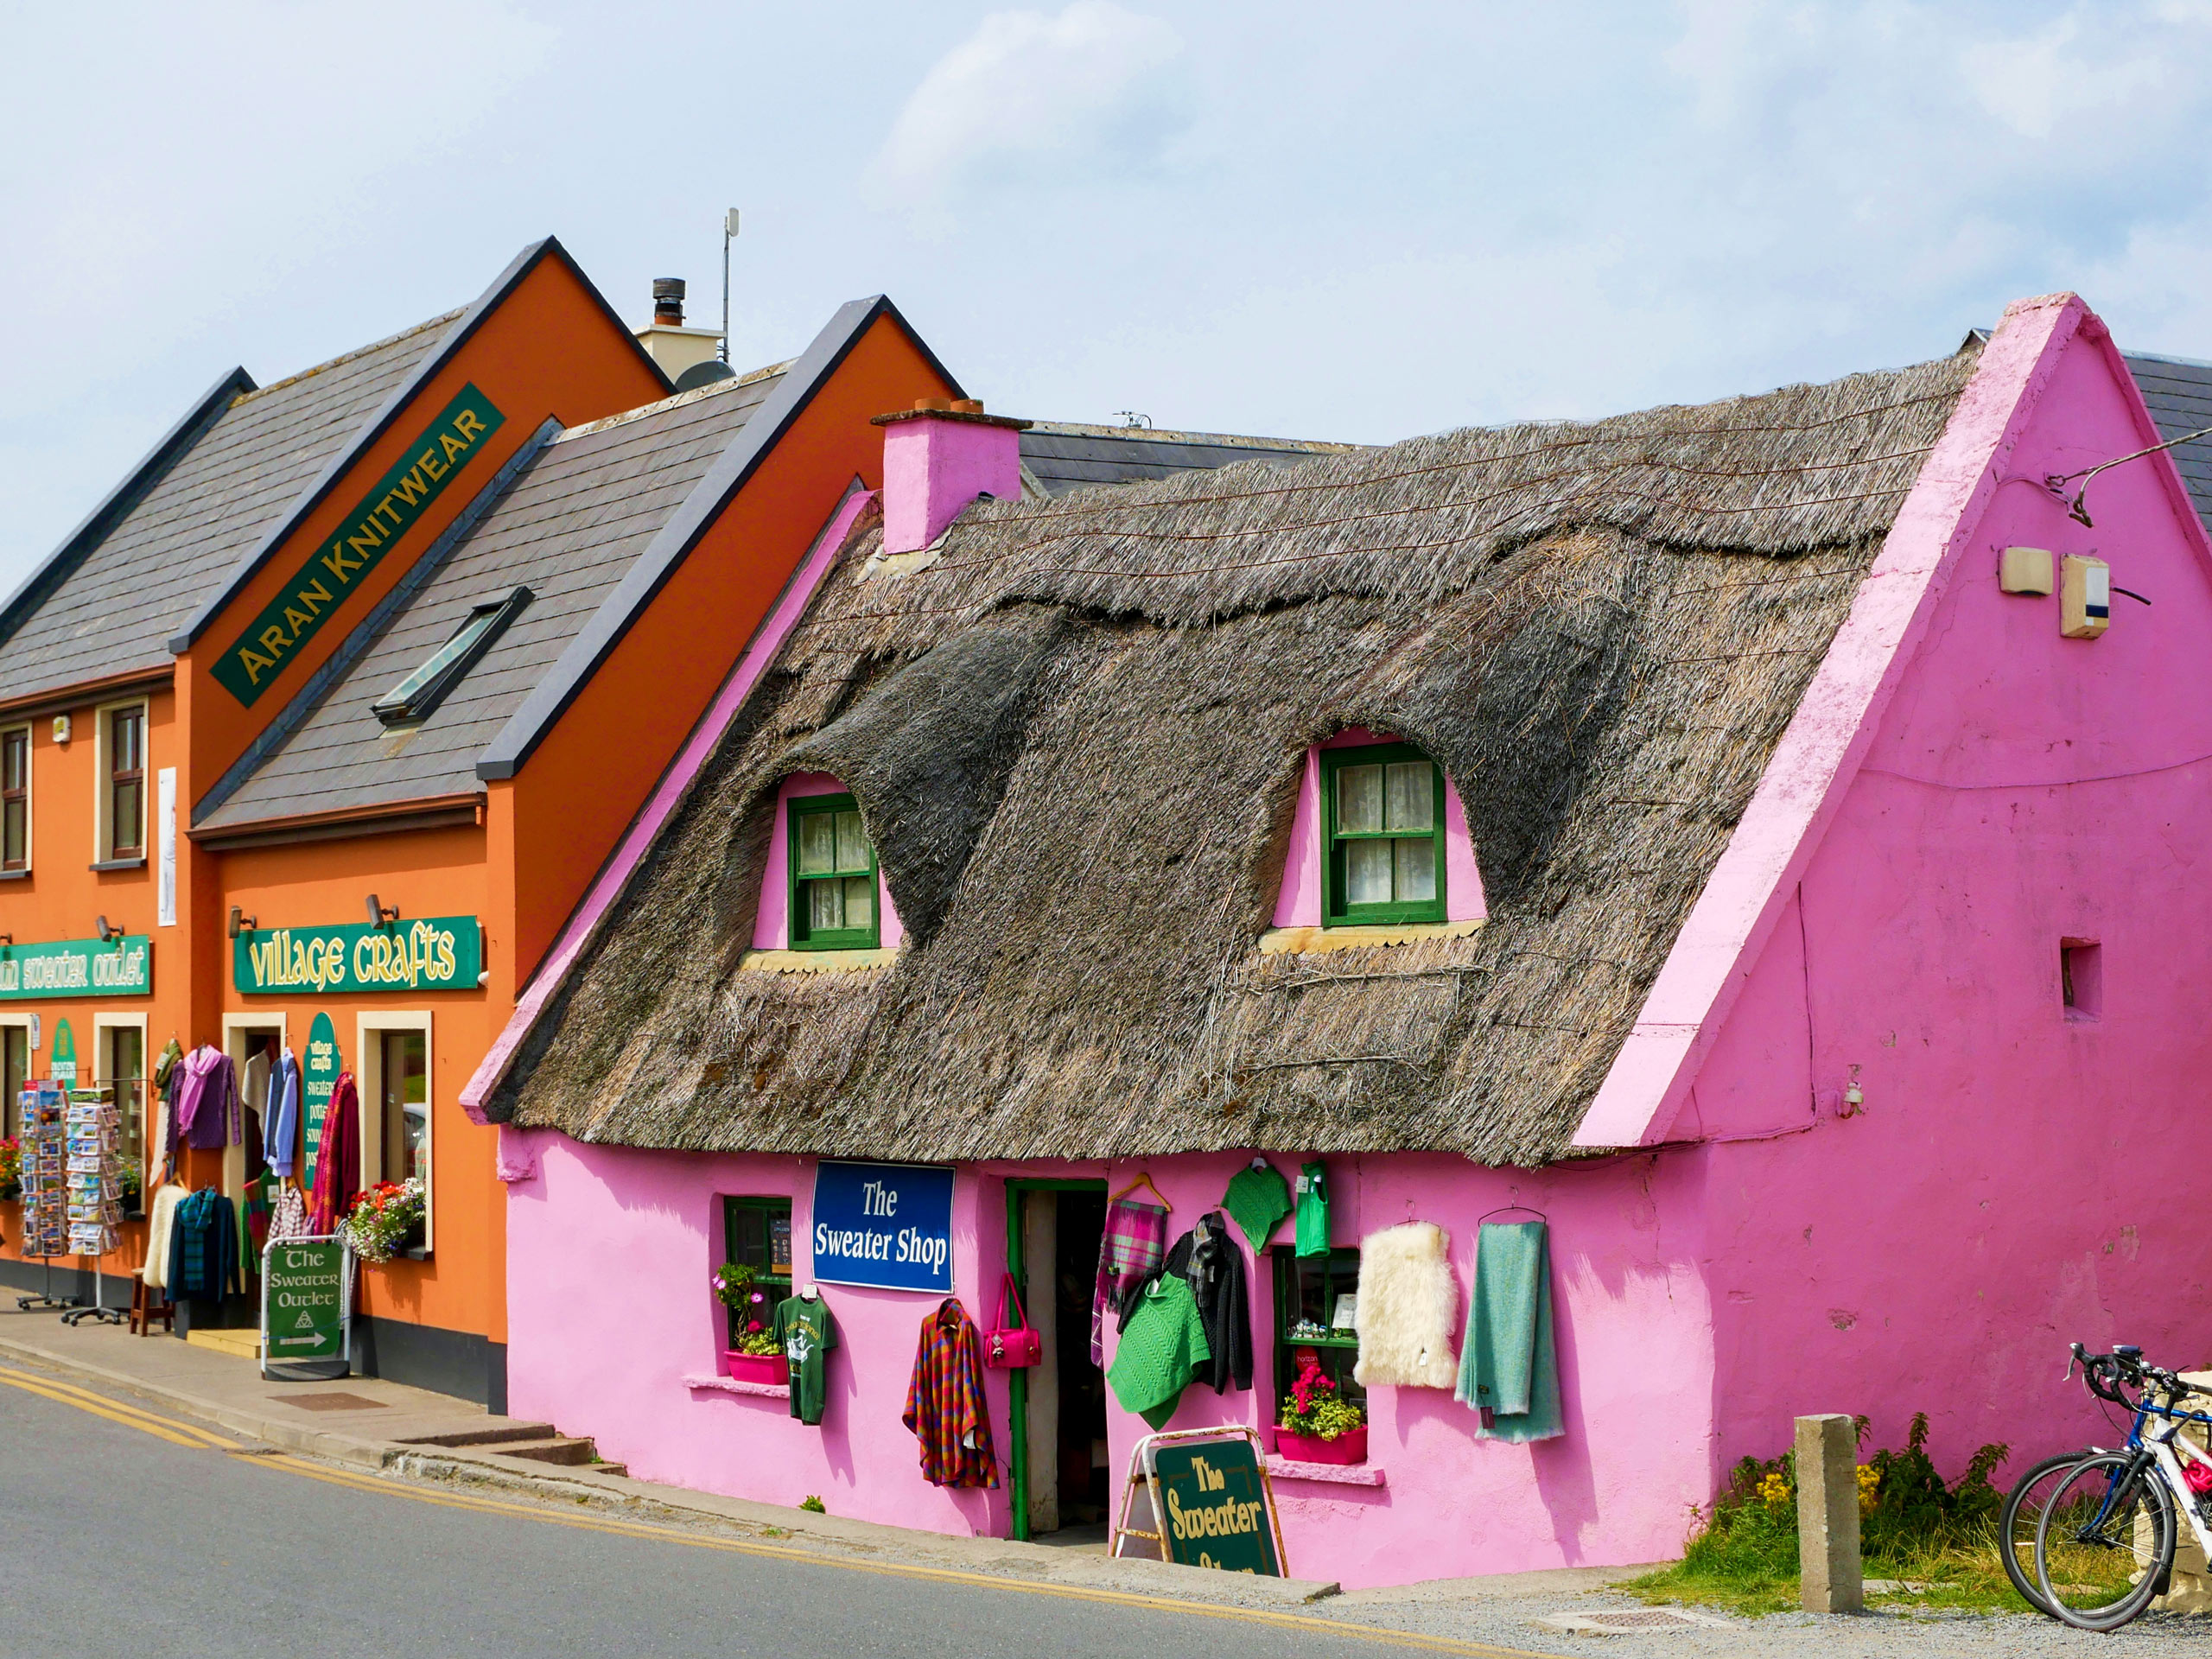
[[[896,500],[830,526],[471,1086],[515,1411],[650,1480],[1095,1524],[1146,1433],[1091,1352],[1108,1203],[1175,1241],[1241,1175],[1250,1385],[1168,1422],[1274,1444],[1336,1378],[1365,1455],[1274,1482],[1347,1586],[1666,1557],[1805,1411],[2024,1462],[2084,1429],[2068,1338],[2205,1358],[2212,549],[2163,453],[2070,511],[2159,442],[2081,301],[1060,500],[1013,438],[887,427]],[[1548,1438],[1455,1398],[1486,1219],[1542,1221]],[[728,1358],[726,1261],[832,1312],[818,1422]],[[1044,1363],[984,1374],[998,1484],[931,1484],[922,1321],[993,1327],[1009,1272]]]

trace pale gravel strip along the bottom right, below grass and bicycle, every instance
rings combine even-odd
[[[1820,1655],[1820,1659],[2042,1659],[2042,1655],[2192,1655],[2212,1652],[2212,1617],[2181,1613],[2148,1613],[2117,1635],[2097,1637],[2068,1630],[2055,1619],[2026,1615],[1896,1610],[1818,1615],[1776,1613],[1765,1619],[1728,1619],[1728,1628],[1681,1628],[1657,1635],[1577,1637],[1537,1624],[1551,1613],[1590,1613],[1597,1608],[1641,1610],[1644,1604],[1621,1595],[1548,1595],[1438,1601],[1365,1601],[1358,1595],[1323,1601],[1321,1617],[1347,1624],[1376,1624],[1455,1641],[1491,1641],[1531,1655],[1606,1655],[1606,1659],[1692,1659],[1728,1655],[1759,1659],[1761,1655]],[[1705,1613],[1703,1608],[1692,1608]],[[1721,1615],[1708,1615],[1721,1617]]]

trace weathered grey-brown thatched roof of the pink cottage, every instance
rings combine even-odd
[[[898,575],[863,524],[489,1117],[1562,1157],[1973,363],[980,502]],[[1347,726],[1455,779],[1475,936],[1259,953]],[[739,971],[792,770],[858,796],[896,964]]]

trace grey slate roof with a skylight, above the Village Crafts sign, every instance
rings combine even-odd
[[[478,790],[476,757],[774,392],[781,372],[776,365],[719,380],[555,436],[325,688],[292,737],[192,827]],[[531,604],[427,721],[387,730],[369,712],[473,606],[518,586],[531,588]]]

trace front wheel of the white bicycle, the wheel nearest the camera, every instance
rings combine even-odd
[[[2117,1630],[2174,1571],[2174,1500],[2157,1464],[2099,1451],[2059,1475],[2035,1522],[2035,1586],[2077,1630]]]

